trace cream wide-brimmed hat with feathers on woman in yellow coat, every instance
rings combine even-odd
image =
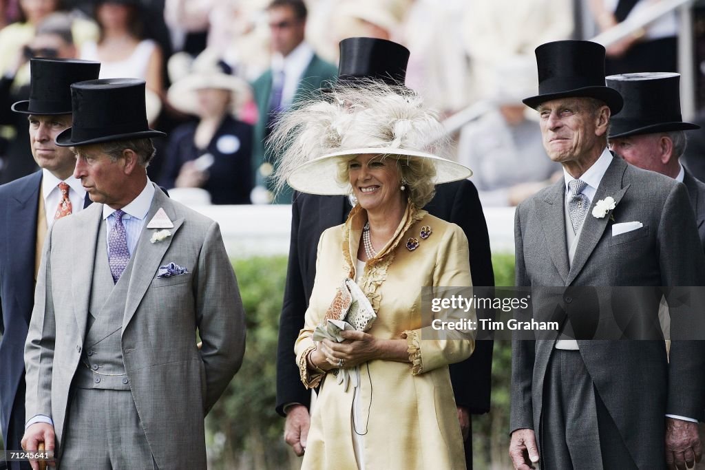
[[[336,85],[329,101],[309,101],[285,113],[269,144],[281,155],[276,187],[286,182],[309,194],[350,194],[350,183],[336,176],[341,161],[362,154],[424,159],[434,166],[434,184],[472,175],[443,158],[448,139],[436,113],[412,90],[384,82]]]

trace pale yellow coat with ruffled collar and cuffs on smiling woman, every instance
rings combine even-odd
[[[345,224],[329,228],[319,241],[316,280],[305,327],[295,344],[303,383],[322,383],[312,409],[304,469],[357,469],[350,420],[354,389],[343,390],[333,373],[309,374],[306,354],[315,348],[310,337],[336,288],[346,276],[355,278],[353,260],[366,221],[367,213],[355,208]],[[432,230],[426,240],[419,237],[424,225]],[[419,241],[414,251],[406,247],[410,237]],[[471,285],[465,234],[458,225],[409,204],[394,237],[367,262],[358,284],[377,312],[367,333],[381,339],[406,338],[411,362],[374,360],[360,366],[366,468],[465,469],[448,364],[469,357],[474,341],[419,338],[420,328],[428,326],[422,325],[419,314],[421,287]]]

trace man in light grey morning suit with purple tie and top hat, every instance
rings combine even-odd
[[[56,443],[65,469],[205,469],[204,416],[245,349],[219,227],[147,178],[149,137],[162,134],[148,128],[143,80],[71,93],[73,127],[56,143],[75,147],[74,175],[98,204],[47,235],[23,447]]]

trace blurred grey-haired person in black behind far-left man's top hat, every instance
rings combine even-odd
[[[30,85],[25,83],[25,64],[32,57],[39,58],[75,58],[76,48],[71,34],[71,18],[64,13],[49,16],[37,27],[37,34],[20,51],[15,64],[8,73],[0,78],[0,125],[11,128],[10,137],[2,152],[0,165],[0,183],[21,178],[37,171],[35,162],[28,158],[30,147],[25,135],[27,119],[25,116],[13,113],[11,104],[27,99]]]

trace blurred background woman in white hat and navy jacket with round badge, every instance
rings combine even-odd
[[[171,133],[161,185],[202,187],[213,204],[250,204],[252,125],[238,120],[250,87],[207,49],[168,91],[171,106],[198,116]]]

